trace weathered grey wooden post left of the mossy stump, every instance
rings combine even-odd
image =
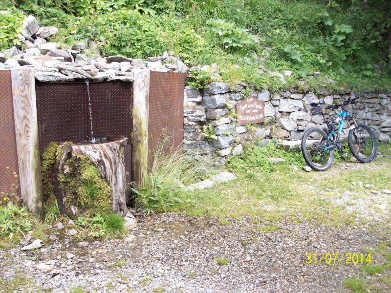
[[[38,142],[34,69],[11,69],[19,182],[27,209],[43,218],[43,191]]]

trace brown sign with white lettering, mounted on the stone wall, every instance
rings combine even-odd
[[[265,108],[263,102],[255,97],[247,97],[236,104],[236,112],[238,113],[239,125],[261,123],[265,121]]]

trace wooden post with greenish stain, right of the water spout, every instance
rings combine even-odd
[[[136,188],[147,184],[149,70],[133,70],[133,146],[132,175]]]

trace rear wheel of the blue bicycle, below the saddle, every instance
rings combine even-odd
[[[302,153],[308,166],[326,171],[333,162],[334,149],[327,148],[327,134],[317,127],[307,129],[302,138]]]

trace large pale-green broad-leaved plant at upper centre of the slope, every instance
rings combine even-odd
[[[248,45],[250,47],[259,43],[256,35],[250,34],[248,29],[237,27],[233,22],[224,20],[206,21],[207,30],[222,43],[224,48],[236,48]]]

